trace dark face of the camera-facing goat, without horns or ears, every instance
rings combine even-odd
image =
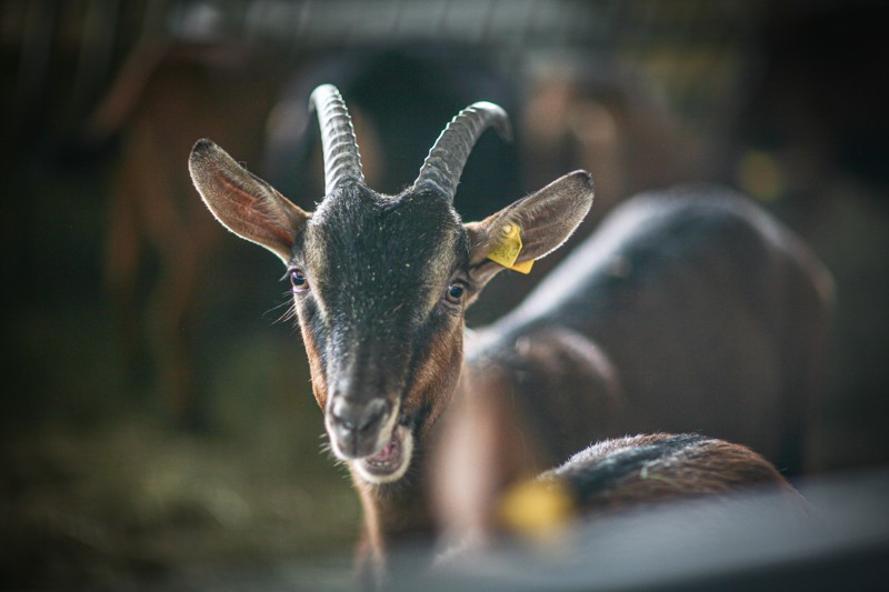
[[[366,481],[408,468],[455,389],[469,239],[443,200],[347,184],[297,238],[289,274],[333,452]]]

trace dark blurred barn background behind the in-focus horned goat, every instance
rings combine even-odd
[[[282,269],[188,178],[209,137],[300,205],[309,92],[339,86],[368,182],[412,182],[477,100],[456,205],[477,220],[585,168],[595,230],[711,180],[802,235],[838,290],[815,466],[889,462],[887,4],[807,0],[4,0],[0,3],[0,586],[348,582],[358,500],[321,449]],[[568,249],[559,253],[563,257]],[[482,324],[530,277],[498,279]],[[327,569],[327,568],[342,569]]]

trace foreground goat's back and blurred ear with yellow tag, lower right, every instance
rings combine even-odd
[[[781,509],[810,515],[806,500],[769,461],[697,433],[606,439],[539,472],[546,466],[539,444],[528,439],[529,418],[509,393],[482,387],[488,388],[452,403],[434,452],[428,495],[446,543],[440,563],[505,535],[551,541],[577,518],[680,500],[771,491],[780,493],[775,499]]]

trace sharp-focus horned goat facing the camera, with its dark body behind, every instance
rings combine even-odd
[[[567,174],[465,224],[457,184],[487,128],[509,137],[502,109],[461,111],[417,180],[387,197],[363,182],[339,91],[321,86],[309,102],[326,169],[314,212],[209,140],[189,168],[213,215],[287,265],[312,390],[362,502],[360,564],[381,569],[388,544],[433,534],[424,488],[438,420],[479,377],[501,378],[527,405],[528,438],[549,466],[651,425],[702,429],[772,458],[787,444],[797,460],[822,300],[812,258],[765,213],[737,197],[635,201],[525,304],[467,340],[465,360],[466,308],[497,273],[527,272],[569,238],[591,207],[590,175]]]

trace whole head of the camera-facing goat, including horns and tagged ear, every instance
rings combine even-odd
[[[387,197],[363,182],[339,92],[319,87],[311,104],[319,112],[327,173],[327,195],[314,213],[209,140],[194,146],[189,168],[224,227],[288,265],[334,454],[364,482],[391,483],[404,475],[414,448],[452,397],[466,307],[502,269],[527,272],[558,248],[589,211],[592,184],[579,171],[481,222],[462,224],[453,193],[482,131],[508,130],[499,107],[465,109],[436,142],[417,181]]]

